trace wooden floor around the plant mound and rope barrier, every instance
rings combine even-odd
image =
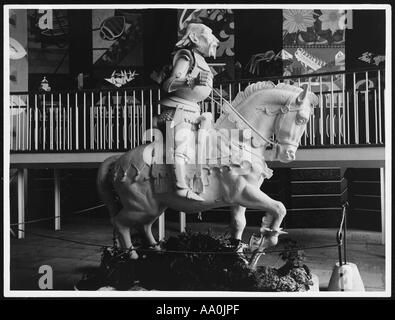
[[[178,233],[177,223],[166,223],[166,237]],[[187,225],[193,231],[223,234],[226,225],[204,222]],[[49,265],[53,269],[53,287],[56,290],[73,290],[85,272],[96,268],[100,262],[100,247],[72,243],[59,239],[48,239],[35,235],[72,239],[95,245],[111,245],[112,228],[107,219],[84,217],[62,222],[62,230],[53,231],[50,226],[28,225],[26,238],[11,237],[11,289],[38,290],[39,267]],[[248,242],[250,235],[258,228],[247,227],[243,240]],[[291,229],[289,237],[301,247],[336,244],[336,230]],[[157,234],[157,233],[156,233]],[[285,237],[285,236],[284,236]],[[385,246],[380,244],[380,234],[349,230],[348,261],[357,265],[367,291],[382,291],[385,286]],[[325,291],[334,264],[338,261],[337,247],[312,248],[305,250],[305,264],[319,278],[320,290]],[[280,267],[282,260],[278,253],[262,256],[259,264]]]

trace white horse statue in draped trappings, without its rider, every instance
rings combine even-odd
[[[203,202],[173,192],[169,165],[156,163],[155,156],[147,157],[155,153],[157,142],[106,159],[99,168],[97,185],[121,247],[131,249],[132,258],[138,257],[130,235],[131,228],[136,228],[148,246],[158,248],[151,227],[166,208],[196,213],[218,207],[230,207],[230,237],[237,240],[246,226],[246,208],[266,212],[265,242],[276,245],[286,208],[260,190],[264,179],[272,174],[264,160],[265,149],[272,144],[275,159],[295,160],[300,138],[317,104],[317,96],[307,86],[302,89],[269,81],[249,85],[231,105],[223,105],[224,112],[213,127],[210,117],[203,114],[206,121],[201,122],[199,134],[206,134],[202,141],[207,152],[201,153],[207,156],[206,162],[196,165],[199,170],[192,171],[190,177],[193,185],[193,177],[201,173],[203,188],[198,193]],[[232,139],[230,135],[235,132],[239,138]],[[275,141],[270,140],[273,135]],[[213,137],[219,136],[220,143],[213,142]]]

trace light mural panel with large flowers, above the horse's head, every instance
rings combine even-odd
[[[345,29],[352,28],[350,10],[283,10],[283,75],[326,73],[345,70]],[[333,89],[342,88],[335,77]],[[312,80],[312,90],[319,83]],[[315,86],[316,85],[316,86]],[[331,88],[323,78],[323,90]]]

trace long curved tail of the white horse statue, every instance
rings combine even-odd
[[[120,210],[119,204],[115,199],[114,188],[110,180],[111,177],[109,176],[110,170],[118,158],[119,156],[112,156],[104,160],[99,167],[96,180],[97,191],[107,206],[111,218],[115,217]]]

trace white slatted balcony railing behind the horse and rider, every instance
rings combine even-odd
[[[309,83],[319,98],[302,136],[301,147],[384,144],[384,71],[382,69],[254,79],[216,84],[201,103],[218,118],[224,101],[252,82]],[[160,114],[158,87],[11,93],[12,152],[124,151],[144,142]],[[217,104],[216,102],[219,104]],[[149,138],[149,137],[148,137]]]

